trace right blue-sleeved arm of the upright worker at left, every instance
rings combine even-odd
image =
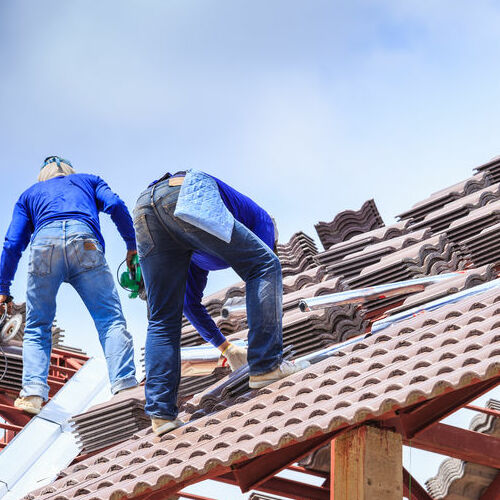
[[[135,231],[132,217],[123,200],[100,178],[96,177],[96,199],[97,208],[106,214],[111,215],[111,220],[118,228],[118,232],[124,239],[127,250],[135,251]]]

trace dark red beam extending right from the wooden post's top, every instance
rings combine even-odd
[[[434,424],[404,444],[500,469],[500,438],[447,424]]]

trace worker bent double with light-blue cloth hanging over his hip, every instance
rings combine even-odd
[[[197,170],[166,174],[140,195],[134,226],[150,313],[145,410],[157,435],[181,425],[176,402],[182,312],[195,327],[211,324],[200,304],[211,269],[232,267],[246,282],[251,388],[308,365],[282,359],[283,290],[272,251],[274,224],[250,198]],[[225,339],[214,327],[209,335],[201,331],[216,345]]]

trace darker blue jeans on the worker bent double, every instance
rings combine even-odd
[[[145,411],[152,417],[170,420],[178,413],[182,310],[194,250],[220,257],[246,282],[250,373],[274,370],[283,355],[283,285],[278,257],[238,221],[230,243],[225,243],[174,217],[179,191],[179,186],[160,182],[153,200],[150,188],[141,194],[134,210],[137,250],[150,313]]]

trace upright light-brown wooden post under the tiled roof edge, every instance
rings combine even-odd
[[[335,439],[335,500],[401,500],[401,435],[364,425]]]

